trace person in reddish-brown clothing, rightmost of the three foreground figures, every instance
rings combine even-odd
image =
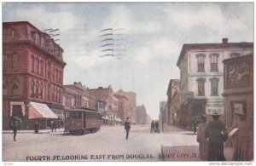
[[[252,161],[253,160],[253,123],[249,125],[245,113],[238,113],[240,121],[235,124],[238,129],[234,138],[234,161]]]

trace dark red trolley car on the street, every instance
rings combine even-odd
[[[65,110],[64,129],[69,134],[84,135],[95,133],[101,128],[102,116],[98,112],[82,108],[73,108]]]

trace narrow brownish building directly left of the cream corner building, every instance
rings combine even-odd
[[[167,89],[167,109],[168,109],[168,124],[177,124],[177,111],[179,110],[180,100],[177,98],[177,90],[179,86],[179,79],[171,79]],[[174,97],[175,95],[175,97]]]

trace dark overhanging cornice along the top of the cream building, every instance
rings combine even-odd
[[[188,49],[222,49],[222,48],[230,48],[230,47],[252,47],[253,43],[241,42],[241,43],[185,43],[183,44],[183,48],[179,54],[177,60],[177,66],[180,65],[183,60],[184,54],[188,51]]]

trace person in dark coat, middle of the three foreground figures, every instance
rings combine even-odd
[[[224,157],[224,142],[228,139],[227,129],[218,117],[218,113],[212,115],[213,121],[209,122],[205,132],[208,139],[208,161],[226,161]]]

